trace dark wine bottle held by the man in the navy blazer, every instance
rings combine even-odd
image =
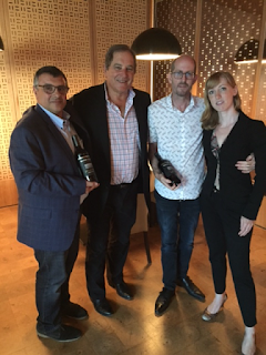
[[[76,134],[72,135],[72,141],[75,149],[76,160],[80,166],[80,171],[82,175],[88,181],[95,181],[98,182],[96,173],[91,162],[91,156],[89,153],[81,146],[79,138]]]

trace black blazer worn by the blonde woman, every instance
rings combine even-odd
[[[213,130],[203,131],[203,146],[207,164],[207,175],[203,183],[202,196],[211,195],[214,186],[217,160],[211,150]],[[235,166],[250,153],[256,159],[255,183],[250,175],[243,174]],[[258,209],[266,192],[266,129],[262,121],[249,119],[242,111],[239,118],[219,153],[219,190],[225,203],[236,209],[241,215],[256,220]]]

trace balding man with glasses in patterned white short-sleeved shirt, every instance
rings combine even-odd
[[[205,176],[201,125],[204,101],[191,94],[196,79],[195,60],[182,54],[172,62],[167,74],[172,93],[149,108],[149,154],[155,175],[164,284],[155,302],[156,316],[167,310],[176,285],[196,300],[205,301],[203,292],[187,275],[200,215],[198,196]],[[177,186],[158,169],[155,152],[173,164],[181,179]],[[244,173],[253,170],[247,162],[238,162],[238,169]]]

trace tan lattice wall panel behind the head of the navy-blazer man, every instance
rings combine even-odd
[[[88,1],[9,0],[9,21],[21,113],[35,102],[32,79],[40,67],[59,67],[69,95],[92,84]]]

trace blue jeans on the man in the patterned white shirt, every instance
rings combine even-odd
[[[200,215],[200,199],[168,200],[156,191],[157,220],[161,229],[161,257],[164,287],[175,290],[176,281],[186,276]]]

